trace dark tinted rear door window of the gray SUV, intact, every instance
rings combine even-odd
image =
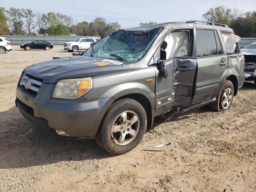
[[[198,57],[217,54],[216,40],[213,30],[196,30],[196,53]]]

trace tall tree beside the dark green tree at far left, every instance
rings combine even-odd
[[[8,22],[11,27],[11,33],[14,35],[24,34],[22,11],[20,9],[11,7],[10,10],[7,11],[7,14],[8,14],[8,18],[9,18]]]

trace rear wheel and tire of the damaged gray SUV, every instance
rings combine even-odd
[[[215,102],[209,104],[211,110],[224,111],[230,108],[234,98],[234,86],[231,81],[224,80]]]

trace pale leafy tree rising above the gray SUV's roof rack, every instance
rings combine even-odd
[[[210,8],[205,14],[202,15],[204,20],[209,22],[216,22],[221,24],[229,24],[232,18],[231,9],[225,9],[223,6]]]

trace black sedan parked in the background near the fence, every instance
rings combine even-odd
[[[24,50],[31,50],[31,49],[44,49],[46,51],[50,50],[53,48],[53,44],[49,43],[47,41],[42,41],[42,40],[34,40],[26,44],[20,44],[20,48]]]

